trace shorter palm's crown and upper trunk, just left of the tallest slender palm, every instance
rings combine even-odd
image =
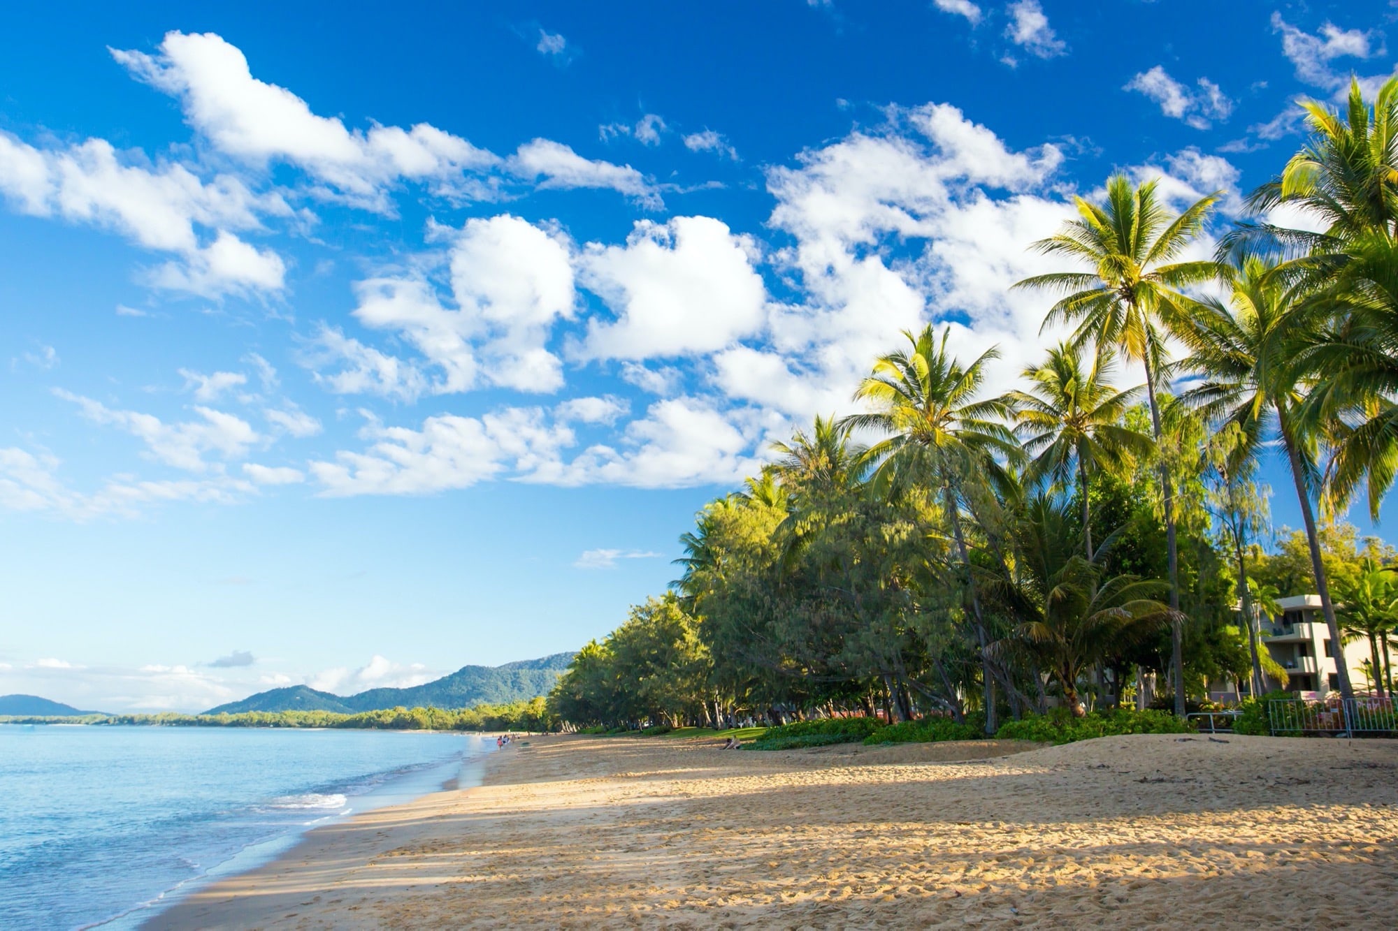
[[[1117,390],[1109,384],[1114,354],[1103,349],[1089,366],[1082,347],[1060,342],[1037,366],[1023,370],[1028,391],[1008,391],[1015,408],[1016,433],[1033,456],[1025,470],[1026,484],[1051,479],[1076,481],[1082,502],[1082,544],[1092,559],[1092,512],[1088,478],[1097,471],[1120,474],[1153,449],[1151,438],[1123,425],[1141,389]]]

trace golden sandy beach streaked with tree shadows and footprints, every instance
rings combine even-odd
[[[1398,924],[1398,741],[527,739],[150,927]]]

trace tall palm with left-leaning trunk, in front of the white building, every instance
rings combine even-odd
[[[1318,488],[1316,435],[1297,414],[1311,386],[1302,361],[1317,338],[1316,322],[1307,313],[1306,285],[1289,284],[1285,266],[1258,257],[1244,260],[1226,277],[1230,282],[1227,302],[1201,301],[1195,313],[1176,327],[1176,335],[1190,348],[1184,368],[1201,379],[1183,400],[1216,425],[1237,426],[1234,463],[1255,459],[1274,432],[1281,440],[1306,524],[1321,611],[1331,642],[1339,643],[1335,602],[1311,506],[1311,492]],[[1352,699],[1343,651],[1336,651],[1335,667],[1341,695]]]

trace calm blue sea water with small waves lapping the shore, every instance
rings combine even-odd
[[[309,828],[436,791],[495,741],[0,724],[0,928],[134,927]]]

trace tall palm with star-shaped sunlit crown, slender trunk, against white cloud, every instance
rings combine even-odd
[[[1145,366],[1151,425],[1159,445],[1162,428],[1156,390],[1166,362],[1165,338],[1174,320],[1186,316],[1192,305],[1181,289],[1218,275],[1213,261],[1179,259],[1198,235],[1209,207],[1222,192],[1172,217],[1155,187],[1153,180],[1132,187],[1127,178],[1117,175],[1107,180],[1104,204],[1075,199],[1079,218],[1065,222],[1057,235],[1036,242],[1033,247],[1048,256],[1075,259],[1083,270],[1035,275],[1014,287],[1061,294],[1044,320],[1046,327],[1058,322],[1076,324],[1074,342],[1078,345],[1095,341],[1099,348],[1116,347],[1127,359]],[[1170,558],[1170,609],[1176,619],[1172,630],[1174,712],[1183,717],[1184,630],[1179,614],[1174,493],[1169,464],[1163,459],[1159,468]]]

